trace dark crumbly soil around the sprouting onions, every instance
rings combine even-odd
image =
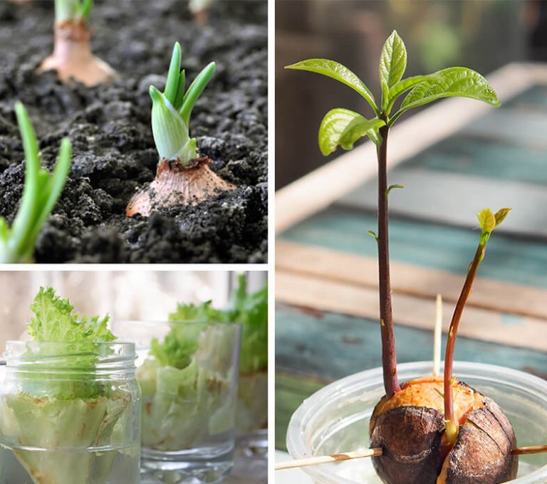
[[[70,178],[38,238],[36,262],[266,262],[266,1],[220,0],[210,17],[197,26],[183,0],[96,0],[93,53],[120,79],[85,88],[36,73],[53,48],[53,2],[0,0],[0,216],[11,223],[23,189],[15,100],[26,105],[46,167],[63,136],[73,144]],[[214,172],[238,188],[127,218],[127,201],[155,176],[148,88],[163,90],[174,41],[187,82],[217,62],[190,131]]]

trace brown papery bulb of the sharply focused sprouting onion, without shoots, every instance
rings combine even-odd
[[[211,159],[194,159],[189,166],[179,160],[162,159],[156,177],[145,189],[138,191],[127,204],[125,214],[149,216],[152,211],[174,205],[194,205],[204,199],[233,190],[235,185],[224,181],[207,166]]]

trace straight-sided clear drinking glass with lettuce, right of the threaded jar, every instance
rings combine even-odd
[[[118,322],[137,345],[143,483],[217,483],[234,463],[240,327]]]

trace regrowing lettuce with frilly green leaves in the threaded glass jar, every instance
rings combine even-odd
[[[33,483],[106,484],[134,419],[127,382],[96,374],[110,356],[100,343],[115,340],[108,317],[73,314],[51,288],[39,290],[31,310],[24,372],[14,367],[0,391],[0,441]]]

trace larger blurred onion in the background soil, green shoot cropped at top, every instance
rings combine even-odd
[[[89,46],[88,17],[93,0],[55,0],[55,43],[53,53],[44,59],[38,70],[56,70],[58,78],[71,78],[88,86],[108,83],[115,71],[93,56]]]

